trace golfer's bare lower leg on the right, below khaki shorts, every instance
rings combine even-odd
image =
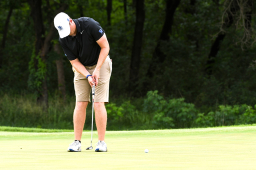
[[[95,123],[97,126],[98,140],[104,141],[106,131],[106,109],[104,102],[94,102]]]

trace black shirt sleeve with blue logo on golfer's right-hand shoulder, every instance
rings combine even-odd
[[[100,24],[92,18],[88,19],[89,22],[89,31],[91,36],[95,41],[99,40],[104,35],[104,29],[100,26]]]

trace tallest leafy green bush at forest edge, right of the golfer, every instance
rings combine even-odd
[[[193,104],[185,103],[183,98],[166,101],[157,94],[158,91],[147,92],[144,100],[144,112],[153,114],[153,124],[162,128],[189,128],[197,110]]]

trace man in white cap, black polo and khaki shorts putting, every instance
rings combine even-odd
[[[94,111],[98,132],[95,152],[107,152],[104,142],[106,130],[106,109],[108,103],[109,79],[112,62],[109,58],[109,44],[100,24],[89,17],[71,19],[60,12],[54,18],[59,33],[59,43],[72,65],[74,72],[75,109],[73,113],[74,142],[67,152],[81,151],[81,136],[85,122],[86,107],[90,102],[90,90],[95,85]]]

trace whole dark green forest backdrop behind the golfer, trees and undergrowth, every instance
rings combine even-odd
[[[73,72],[53,18],[110,45],[107,130],[256,123],[253,0],[1,0],[0,126],[72,129]],[[90,129],[91,104],[85,130]],[[95,128],[94,128],[95,129]]]

